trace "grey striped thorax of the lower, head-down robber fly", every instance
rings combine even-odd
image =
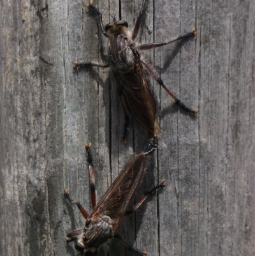
[[[84,228],[84,244],[89,247],[98,247],[113,236],[112,219],[101,216],[89,222]]]

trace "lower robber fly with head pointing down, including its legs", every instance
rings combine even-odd
[[[146,251],[140,251],[133,248],[133,246],[129,245],[123,237],[115,234],[115,231],[125,215],[136,211],[150,193],[155,192],[157,189],[163,188],[164,186],[163,180],[160,184],[145,192],[135,206],[133,206],[130,211],[127,211],[149,165],[150,153],[156,148],[155,142],[150,142],[149,149],[146,153],[138,154],[126,165],[126,167],[124,167],[97,206],[94,189],[94,167],[90,150],[91,143],[85,144],[85,147],[87,151],[87,162],[89,163],[89,173],[91,176],[91,202],[93,211],[91,215],[89,215],[79,202],[74,202],[71,199],[68,190],[64,190],[64,197],[66,197],[71,204],[77,204],[78,209],[80,209],[80,212],[86,219],[84,228],[69,233],[66,240],[68,242],[77,240],[75,248],[78,252],[80,252],[81,255],[92,256],[96,255],[100,245],[114,236],[121,239],[122,242],[136,254],[142,256],[147,255]]]

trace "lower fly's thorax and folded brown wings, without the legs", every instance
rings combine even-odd
[[[150,156],[140,154],[129,162],[89,215],[82,236],[88,248],[97,248],[112,238],[142,181],[149,160]]]

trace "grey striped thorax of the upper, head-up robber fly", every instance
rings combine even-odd
[[[113,36],[109,41],[109,62],[113,72],[127,73],[131,72],[134,68],[134,54],[131,45],[134,42],[119,34]]]

